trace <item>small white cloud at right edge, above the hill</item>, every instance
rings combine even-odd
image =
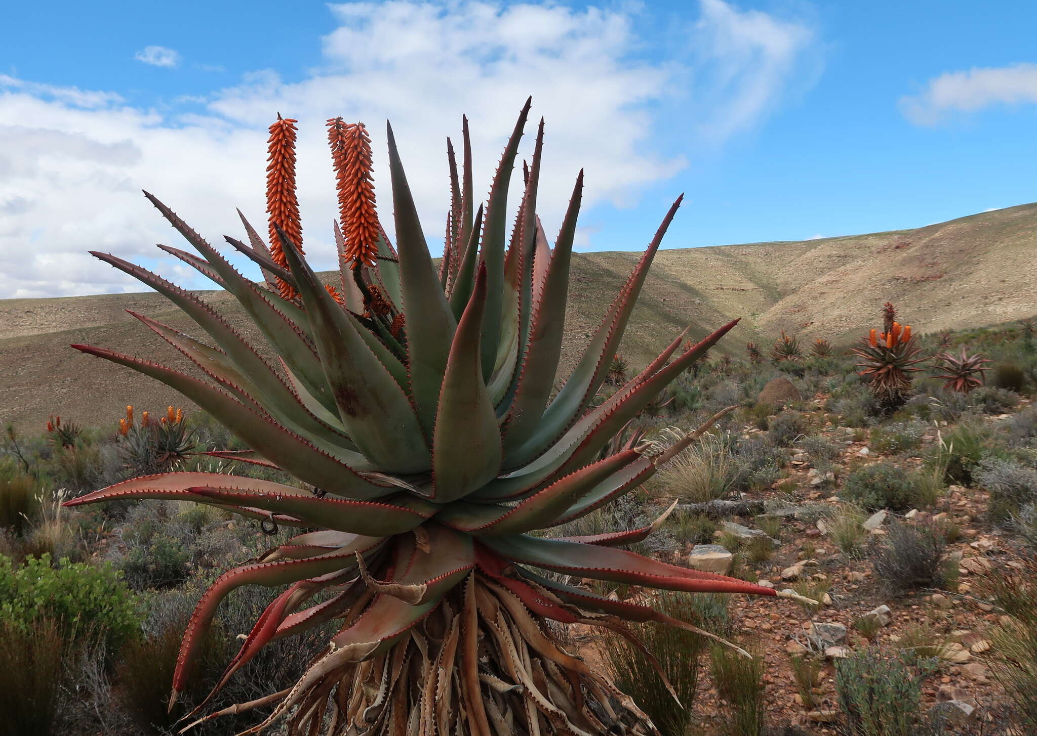
[[[946,72],[919,94],[901,97],[900,110],[915,124],[934,125],[953,113],[1027,104],[1037,104],[1037,64],[1019,63]]]

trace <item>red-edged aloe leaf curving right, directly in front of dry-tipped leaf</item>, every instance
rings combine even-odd
[[[476,535],[524,534],[551,526],[585,494],[641,458],[636,450],[620,452],[558,479],[543,490],[508,508],[487,504],[452,504],[439,516],[442,523]]]

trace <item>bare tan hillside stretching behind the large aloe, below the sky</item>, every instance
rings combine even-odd
[[[573,259],[566,329],[579,349],[639,254],[583,253]],[[205,292],[233,319],[233,301]],[[721,350],[740,352],[787,330],[851,342],[874,324],[882,302],[897,304],[919,332],[996,324],[1037,312],[1037,203],[915,230],[658,253],[623,344],[634,365],[691,324],[693,336],[734,317]],[[99,424],[128,403],[180,400],[128,369],[68,348],[86,342],[183,365],[124,310],[199,332],[156,293],[0,301],[0,421],[41,423],[50,414]],[[247,331],[246,331],[247,332]],[[573,356],[569,356],[571,359]]]

